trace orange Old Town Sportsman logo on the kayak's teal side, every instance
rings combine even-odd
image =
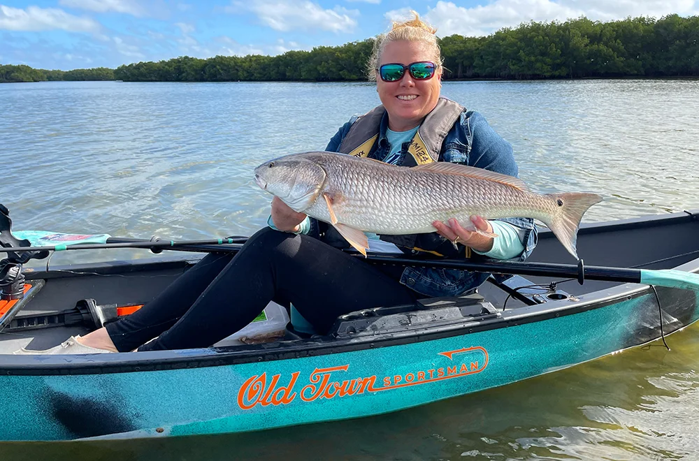
[[[448,358],[451,363],[445,367],[416,369],[405,374],[394,374],[379,378],[376,375],[365,378],[345,379],[349,365],[316,368],[308,383],[299,381],[301,372],[291,373],[289,380],[281,380],[281,374],[268,379],[267,373],[251,376],[238,390],[238,406],[249,410],[258,404],[287,405],[294,400],[312,402],[317,399],[333,399],[347,395],[360,395],[365,392],[381,392],[434,383],[445,379],[454,379],[482,372],[488,366],[488,351],[480,346],[464,347],[456,351],[438,353]],[[281,381],[281,382],[280,382]]]

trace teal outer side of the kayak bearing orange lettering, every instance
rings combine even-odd
[[[665,325],[666,334],[698,318],[697,293],[677,292],[664,293],[663,298],[668,303],[673,298],[676,313],[681,311],[684,319]],[[3,425],[1,436],[165,437],[382,414],[503,386],[644,344],[657,336],[657,326],[644,326],[654,317],[657,320],[657,301],[652,293],[644,293],[507,328],[319,356],[124,372],[118,367],[99,369],[97,364],[90,369],[88,363],[67,376],[5,374],[0,386],[12,398],[4,399],[1,407],[12,423]],[[41,363],[42,358],[34,360]]]

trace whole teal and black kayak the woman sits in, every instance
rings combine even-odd
[[[697,235],[697,214],[684,212],[583,226],[578,249],[589,264],[696,273]],[[300,332],[271,303],[207,349],[13,355],[129,315],[200,257],[25,272],[24,297],[0,301],[0,317],[13,310],[0,332],[0,441],[257,431],[478,398],[665,339],[699,319],[691,286],[514,276],[470,295],[345,314],[327,335]],[[569,258],[542,231],[530,261]]]

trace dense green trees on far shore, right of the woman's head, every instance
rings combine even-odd
[[[486,38],[442,38],[445,78],[699,75],[699,16],[529,22]]]

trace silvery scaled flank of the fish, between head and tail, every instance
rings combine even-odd
[[[504,184],[388,165],[389,168],[377,168],[382,165],[364,162],[356,168],[352,165],[357,163],[354,159],[337,157],[318,161],[328,173],[322,191],[338,197],[333,203],[338,221],[363,231],[387,235],[425,233],[434,231],[433,221],[451,217],[459,221],[468,220],[472,214],[486,219],[519,214],[530,217],[541,214],[535,212],[536,208],[550,210],[545,200],[537,200],[536,194]],[[343,174],[353,167],[353,174]],[[532,207],[534,204],[539,206]],[[308,212],[330,217],[322,196]]]

